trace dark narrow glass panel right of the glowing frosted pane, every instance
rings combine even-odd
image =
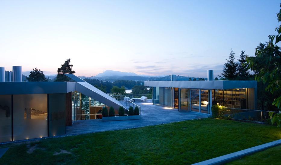
[[[49,136],[65,135],[65,94],[49,94]]]

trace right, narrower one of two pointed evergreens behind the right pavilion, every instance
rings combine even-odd
[[[238,76],[240,80],[248,80],[250,73],[248,71],[248,64],[246,62],[246,54],[245,51],[242,50],[240,53],[240,59],[238,60]]]

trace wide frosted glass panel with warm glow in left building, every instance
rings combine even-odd
[[[48,136],[47,94],[13,95],[14,141]]]

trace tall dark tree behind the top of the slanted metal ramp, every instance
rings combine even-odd
[[[55,79],[55,81],[70,81],[70,78],[65,76],[64,74],[73,74],[75,73],[74,70],[72,70],[73,65],[70,64],[70,58],[65,60],[65,63],[62,64],[60,68],[58,68],[58,75]]]

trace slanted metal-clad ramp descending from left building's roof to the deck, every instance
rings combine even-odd
[[[83,79],[75,76],[74,74],[65,74],[74,81],[78,81],[75,84],[75,90],[81,92],[83,95],[90,97],[96,101],[99,101],[107,106],[112,106],[115,110],[118,110],[120,106],[123,106],[118,100],[107,95],[103,91],[84,81]],[[125,108],[125,107],[124,107]],[[126,109],[126,108],[125,108]]]

